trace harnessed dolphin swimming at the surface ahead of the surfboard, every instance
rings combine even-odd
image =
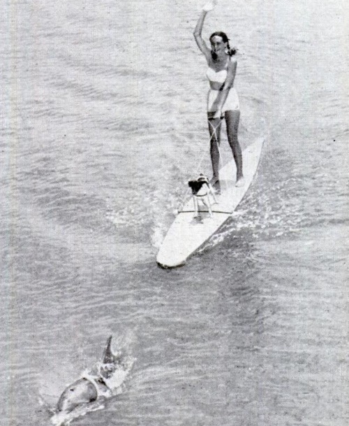
[[[94,402],[100,397],[114,395],[110,385],[113,374],[118,371],[121,383],[124,381],[128,370],[122,364],[121,353],[112,353],[112,336],[108,337],[101,362],[98,362],[90,371],[85,371],[82,376],[67,386],[59,397],[57,413],[70,413],[77,406]]]

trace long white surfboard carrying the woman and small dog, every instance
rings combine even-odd
[[[211,200],[213,217],[209,216],[207,208],[202,208],[201,218],[194,218],[193,197],[188,199],[178,212],[158,251],[156,262],[161,267],[174,268],[183,265],[188,257],[228,220],[252,183],[262,144],[263,139],[257,139],[242,152],[244,186],[235,186],[236,167],[233,159],[219,171],[221,194],[216,195],[218,204],[213,204],[214,201]]]

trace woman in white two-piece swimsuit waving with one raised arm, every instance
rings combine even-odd
[[[209,66],[207,78],[209,79],[210,90],[207,97],[207,117],[211,136],[212,185],[219,191],[219,144],[221,142],[222,118],[225,118],[228,142],[237,166],[236,186],[244,185],[244,176],[242,173],[242,150],[237,138],[240,119],[239,97],[235,87],[233,87],[237,70],[237,60],[233,57],[236,50],[230,48],[228,36],[221,31],[211,34],[209,38],[211,49],[207,47],[201,36],[207,12],[212,10],[216,3],[217,0],[209,1],[202,8],[194,30],[194,38],[199,49],[205,55]]]

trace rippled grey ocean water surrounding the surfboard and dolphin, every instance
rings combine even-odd
[[[40,395],[109,334],[137,358],[128,390],[76,425],[348,425],[348,5],[207,17],[239,48],[242,145],[265,147],[232,219],[163,270],[186,180],[209,170],[200,6],[1,5],[3,425],[47,425]]]

